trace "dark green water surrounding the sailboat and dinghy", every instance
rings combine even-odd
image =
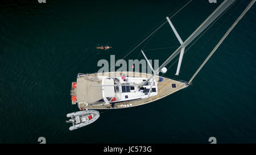
[[[107,110],[97,122],[69,131],[66,114],[77,73],[97,72],[116,60],[187,1],[3,1],[0,7],[0,143],[256,142],[255,5],[193,81],[193,86],[144,106]],[[220,5],[192,1],[172,22],[185,40]],[[237,1],[184,55],[188,81],[245,9]],[[114,47],[97,51],[97,45]],[[140,49],[179,45],[166,24]],[[175,50],[146,51],[159,64]],[[143,56],[139,55],[139,59]],[[172,62],[167,66],[171,66]],[[174,77],[177,63],[164,75]]]

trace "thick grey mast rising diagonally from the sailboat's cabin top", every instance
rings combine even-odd
[[[203,32],[205,28],[207,28],[210,25],[210,23],[212,23],[219,15],[221,15],[222,12],[228,9],[228,7],[232,5],[234,1],[235,0],[225,0],[224,2],[222,2],[221,5],[218,6],[217,9],[214,10],[212,14],[210,14],[208,18],[205,19],[205,21],[188,37],[188,39],[185,40],[184,43],[181,44],[180,47],[177,48],[176,51],[172,53],[170,57],[167,58],[166,61],[164,61],[164,63],[155,71],[155,73],[158,73],[160,69],[164,68],[164,66],[166,66],[171,60],[173,60],[181,52],[182,47],[187,47],[187,45],[191,43],[201,32]],[[152,77],[154,77],[155,73],[152,74],[152,76],[148,78],[146,81],[142,82],[141,87],[146,85],[146,83],[150,81]]]

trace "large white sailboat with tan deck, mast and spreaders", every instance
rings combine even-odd
[[[251,1],[246,10],[240,15],[237,21],[226,32],[221,41],[216,45],[204,63],[200,66],[197,72],[189,80],[177,81],[174,79],[160,77],[159,72],[165,73],[167,69],[165,66],[172,61],[177,55],[179,55],[179,62],[177,65],[176,75],[179,75],[181,62],[183,60],[185,48],[197,37],[205,28],[216,20],[221,14],[227,10],[235,0],[225,0],[217,7],[216,10],[205,19],[205,21],[184,41],[179,36],[174,25],[171,22],[171,18],[166,17],[166,22],[175,33],[177,40],[179,40],[180,47],[176,49],[170,57],[156,70],[154,70],[148,61],[143,51],[142,54],[146,59],[148,66],[153,71],[153,74],[138,73],[138,72],[108,72],[108,73],[93,73],[93,74],[81,74],[77,75],[76,82],[72,82],[72,104],[77,104],[80,110],[85,109],[117,109],[141,106],[146,103],[154,102],[184,89],[189,86],[193,78],[204,66],[209,57],[216,51],[218,46],[222,43],[225,37],[233,29],[236,23],[242,18],[246,11],[250,9],[255,1]],[[190,2],[190,1],[189,1]],[[165,24],[164,23],[164,24]]]

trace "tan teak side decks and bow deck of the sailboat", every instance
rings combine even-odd
[[[125,74],[127,77],[145,77],[148,78],[151,76],[151,74],[146,73],[136,73],[136,72],[114,72],[114,73],[94,73],[94,74],[86,74],[83,76],[109,76],[109,77],[119,77],[121,74]],[[170,95],[172,93],[175,93],[178,90],[184,89],[188,85],[185,82],[176,81],[170,78],[162,77],[163,81],[158,82],[158,94],[150,97],[150,98],[144,98],[144,99],[137,99],[137,100],[129,100],[126,102],[119,102],[115,103],[113,108],[127,108],[127,107],[134,107],[134,106],[141,106],[146,103],[153,102],[155,100],[161,99],[163,97],[166,97],[167,95]],[[159,76],[155,76],[156,81],[158,81]],[[79,108],[82,109],[109,109],[112,108],[111,104],[103,105],[102,103],[94,103],[94,104],[86,104],[86,103],[77,103]]]

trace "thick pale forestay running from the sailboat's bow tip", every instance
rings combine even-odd
[[[237,20],[232,24],[232,26],[229,28],[228,31],[226,31],[225,35],[221,38],[221,40],[218,42],[218,44],[216,45],[216,47],[214,47],[214,49],[212,50],[212,52],[210,52],[209,56],[204,60],[203,64],[201,64],[201,66],[199,67],[199,69],[196,70],[196,73],[193,74],[192,78],[189,79],[189,83],[191,83],[193,81],[193,79],[196,77],[197,73],[199,73],[199,71],[203,68],[203,66],[205,65],[205,63],[209,60],[209,58],[213,55],[213,53],[217,50],[217,48],[221,45],[221,43],[226,39],[226,37],[229,35],[229,33],[233,30],[233,28],[237,25],[237,23],[242,19],[242,17],[246,14],[246,12],[251,8],[251,6],[254,4],[256,0],[253,0],[249,3],[249,5],[247,5],[246,9],[242,12],[242,14],[237,18]]]

